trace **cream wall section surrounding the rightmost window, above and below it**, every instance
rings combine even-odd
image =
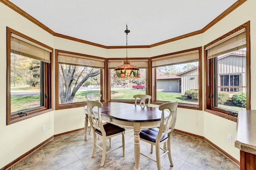
[[[246,23],[250,20],[250,42],[251,42],[251,87],[256,83],[254,76],[256,68],[253,63],[256,63],[256,1],[247,0],[244,4],[216,23],[208,29],[203,36],[203,45],[210,43],[214,39],[228,33],[232,29]],[[256,94],[255,88],[251,88],[251,109],[256,109],[254,97]],[[232,143],[227,141],[228,134],[232,135]],[[221,117],[205,112],[204,114],[204,137],[212,143],[232,155],[237,160],[240,160],[239,150],[234,147],[236,134],[236,123],[222,119]]]

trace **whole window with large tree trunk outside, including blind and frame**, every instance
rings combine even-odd
[[[56,109],[82,107],[86,94],[103,96],[104,59],[56,50]]]

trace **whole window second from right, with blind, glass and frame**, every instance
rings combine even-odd
[[[179,107],[202,109],[201,51],[198,47],[152,57],[154,102],[178,101]]]

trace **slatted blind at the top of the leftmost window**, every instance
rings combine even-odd
[[[51,52],[52,50],[46,47],[14,33],[11,34],[11,53],[50,63]]]

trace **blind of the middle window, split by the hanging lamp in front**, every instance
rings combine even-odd
[[[115,69],[118,66],[121,66],[124,60],[109,60],[108,61],[108,68]],[[136,66],[138,68],[148,68],[148,59],[141,59],[141,60],[129,60],[131,61],[130,64]]]

